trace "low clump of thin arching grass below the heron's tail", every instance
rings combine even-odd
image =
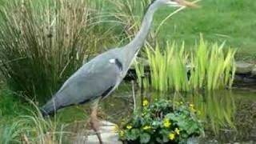
[[[66,126],[59,124],[56,118],[43,118],[38,106],[31,103],[34,110],[28,110],[29,114],[18,116],[12,124],[0,126],[0,142],[61,144],[65,136],[71,134],[64,131]]]

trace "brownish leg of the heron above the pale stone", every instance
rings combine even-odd
[[[102,136],[101,136],[100,131],[99,131],[100,122],[97,118],[97,110],[98,110],[99,100],[100,100],[100,98],[95,99],[94,102],[92,103],[92,105],[90,106],[90,126],[95,131],[95,133],[97,134],[99,143],[102,144],[103,143],[102,142]]]

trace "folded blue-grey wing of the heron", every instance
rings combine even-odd
[[[104,96],[117,84],[120,74],[118,65],[109,60],[87,63],[55,95],[56,106],[70,106]]]

